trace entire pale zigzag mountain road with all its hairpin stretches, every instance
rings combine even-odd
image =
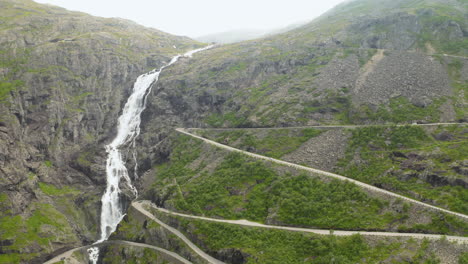
[[[466,123],[435,123],[435,124],[417,124],[417,125],[418,126],[466,125]],[[302,127],[248,128],[248,129],[292,129],[292,128],[350,128],[350,129],[354,129],[354,128],[372,127],[372,126],[375,126],[375,125],[357,125],[357,126],[356,125],[349,125],[349,126],[333,126],[332,125],[332,126],[302,126]],[[392,126],[395,126],[395,125],[387,125],[387,126],[392,127]],[[407,126],[407,125],[397,125],[397,126]],[[219,147],[219,148],[222,148],[222,149],[226,149],[226,150],[231,151],[231,152],[239,152],[239,153],[243,153],[243,154],[245,154],[247,156],[250,156],[250,157],[253,157],[253,158],[256,158],[256,159],[270,161],[270,162],[273,162],[273,163],[276,163],[276,164],[285,165],[285,166],[288,166],[288,167],[293,167],[293,168],[296,168],[296,169],[309,171],[309,172],[312,172],[312,173],[316,173],[316,174],[319,174],[319,175],[339,179],[339,180],[342,180],[342,181],[352,182],[352,183],[354,183],[354,184],[356,184],[356,185],[358,185],[358,186],[360,186],[360,187],[362,187],[364,189],[380,192],[380,193],[387,194],[389,196],[393,196],[393,197],[396,197],[396,198],[401,198],[401,199],[403,199],[405,201],[409,201],[411,203],[415,203],[415,204],[424,206],[426,208],[430,208],[430,209],[433,209],[433,210],[445,212],[445,213],[448,213],[448,214],[452,214],[452,215],[461,217],[464,220],[468,220],[468,216],[464,215],[464,214],[461,214],[461,213],[452,212],[452,211],[449,211],[449,210],[446,210],[446,209],[443,209],[443,208],[439,208],[439,207],[436,207],[436,206],[433,206],[433,205],[430,205],[430,204],[426,204],[426,203],[423,203],[423,202],[420,202],[420,201],[417,201],[417,200],[414,200],[414,199],[411,199],[411,198],[408,198],[408,197],[405,197],[405,196],[402,196],[402,195],[399,195],[399,194],[396,194],[396,193],[392,193],[390,191],[383,190],[383,189],[377,188],[375,186],[372,186],[372,185],[369,185],[369,184],[366,184],[366,183],[363,183],[363,182],[359,182],[359,181],[356,181],[354,179],[350,179],[350,178],[347,178],[347,177],[344,177],[344,176],[341,176],[341,175],[338,175],[338,174],[334,174],[334,173],[330,173],[330,172],[326,172],[326,171],[322,171],[322,170],[318,170],[318,169],[313,169],[313,168],[305,167],[305,166],[302,166],[302,165],[298,165],[298,164],[294,164],[294,163],[290,163],[290,162],[286,162],[286,161],[282,161],[282,160],[278,160],[278,159],[258,155],[258,154],[255,154],[255,153],[247,152],[247,151],[244,151],[244,150],[236,149],[236,148],[233,148],[233,147],[230,147],[230,146],[227,146],[227,145],[223,145],[221,143],[218,143],[218,142],[215,142],[215,141],[200,137],[198,135],[192,134],[188,130],[204,130],[204,129],[199,129],[199,128],[189,128],[189,129],[177,128],[176,129],[176,131],[179,132],[179,133],[191,136],[193,138],[200,139],[200,140],[202,140],[202,141],[204,141],[204,142],[206,142],[206,143],[208,143],[210,145],[213,145],[213,146],[216,146],[216,147]],[[221,128],[221,129],[209,129],[209,130],[233,130],[233,129],[232,128],[229,128],[229,129],[222,129]],[[145,216],[147,216],[151,220],[155,221],[156,223],[161,225],[163,228],[167,229],[169,232],[171,232],[174,235],[176,235],[177,237],[179,237],[195,253],[197,253],[200,257],[202,257],[208,263],[211,263],[211,264],[224,264],[224,262],[222,262],[220,260],[217,260],[217,259],[211,257],[210,255],[206,254],[203,250],[201,250],[199,247],[197,247],[195,244],[193,244],[180,231],[178,231],[177,229],[165,224],[164,222],[162,222],[161,220],[156,218],[152,213],[148,212],[143,207],[144,205],[148,205],[148,206],[151,206],[151,207],[153,207],[153,208],[155,208],[155,209],[157,209],[157,210],[159,210],[161,212],[171,214],[171,215],[180,216],[180,217],[199,219],[199,220],[205,220],[205,221],[211,221],[211,222],[241,225],[241,226],[260,227],[260,228],[268,228],[268,229],[280,229],[280,230],[287,230],[287,231],[293,231],[293,232],[307,232],[307,233],[315,233],[315,234],[320,234],[320,235],[329,235],[329,234],[333,233],[336,236],[351,236],[351,235],[355,235],[355,234],[361,234],[361,235],[364,235],[364,236],[411,237],[411,238],[416,238],[416,239],[431,239],[431,240],[437,240],[437,239],[445,238],[448,241],[458,242],[458,243],[461,243],[461,244],[468,244],[468,237],[443,236],[443,235],[436,235],[436,234],[420,234],[420,233],[394,233],[394,232],[365,232],[365,231],[338,231],[338,230],[332,232],[331,230],[323,230],[323,229],[308,229],[308,228],[288,227],[288,226],[272,226],[272,225],[264,225],[264,224],[260,224],[260,223],[255,223],[255,222],[251,222],[251,221],[248,221],[248,220],[223,220],[223,219],[214,219],[214,218],[208,218],[208,217],[202,217],[202,216],[193,216],[193,215],[176,213],[176,212],[169,211],[167,209],[159,208],[155,204],[151,203],[150,201],[134,201],[134,202],[132,202],[132,206],[136,210],[138,210],[140,213],[144,214]],[[149,244],[135,243],[135,242],[131,242],[131,241],[116,241],[116,240],[109,240],[109,241],[105,241],[105,242],[99,243],[99,244],[92,244],[92,245],[88,245],[88,246],[82,246],[82,247],[74,248],[74,249],[66,251],[66,252],[64,252],[64,253],[62,253],[62,254],[52,258],[51,260],[48,260],[48,261],[44,262],[44,263],[45,264],[52,264],[52,263],[55,263],[55,262],[59,262],[59,261],[61,261],[63,259],[70,258],[72,256],[72,254],[74,252],[76,252],[76,251],[88,249],[90,247],[95,247],[95,246],[99,246],[99,245],[106,245],[106,244],[120,244],[120,245],[126,245],[126,246],[149,248],[149,249],[153,249],[153,250],[156,250],[156,251],[164,254],[168,258],[172,258],[174,263],[182,263],[182,264],[191,263],[190,261],[184,259],[180,255],[178,255],[178,254],[176,254],[174,252],[165,250],[163,248],[159,248],[159,247],[149,245]]]

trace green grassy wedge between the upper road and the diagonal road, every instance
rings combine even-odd
[[[303,155],[312,155],[299,149],[324,148],[326,129],[316,129],[324,137],[306,142],[303,133],[311,129],[283,130],[195,130],[196,133],[240,149],[273,158],[303,163]],[[440,126],[435,128],[368,127],[339,129],[344,133],[345,144],[338,148],[325,149],[334,152],[336,162],[333,168],[323,168],[369,183],[386,190],[425,201],[449,210],[467,214],[468,204],[466,183],[467,134],[466,127]],[[278,132],[277,132],[278,131]],[[287,135],[288,143],[282,142],[281,135]],[[341,139],[335,139],[341,140]],[[285,150],[287,146],[287,151]],[[340,149],[341,148],[341,149]],[[292,153],[291,155],[287,155]],[[339,153],[343,153],[340,156]],[[321,154],[321,153],[320,153]],[[319,159],[318,156],[313,158]],[[303,163],[317,167],[312,161]],[[320,168],[320,167],[319,167]]]

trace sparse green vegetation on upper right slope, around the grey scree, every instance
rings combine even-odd
[[[194,77],[193,72],[187,74],[192,83],[186,85],[198,94],[206,91],[208,85],[210,94],[226,100],[222,107],[210,109],[214,111],[204,116],[204,121],[212,127],[438,121],[440,107],[445,102],[450,104],[448,100],[451,98],[439,98],[427,106],[414,105],[407,98],[398,97],[385,106],[352,107],[350,99],[354,91],[350,91],[350,87],[344,87],[342,91],[341,87],[334,87],[339,92],[324,96],[327,87],[321,86],[321,81],[332,78],[330,69],[324,69],[331,66],[331,61],[353,54],[361,67],[365,65],[378,50],[366,48],[374,45],[364,45],[363,39],[370,41],[375,36],[380,48],[399,47],[402,43],[395,39],[400,35],[399,30],[405,35],[404,42],[408,46],[416,43],[409,50],[422,50],[430,44],[436,49],[435,53],[464,55],[467,45],[460,36],[460,28],[464,27],[466,19],[460,7],[459,4],[443,5],[432,0],[346,3],[298,30],[262,41],[214,49],[209,54],[212,61],[206,58],[194,62],[197,65],[191,66],[190,70],[195,70],[200,77]],[[403,15],[405,13],[407,15]],[[395,23],[389,21],[400,16],[408,20],[402,22],[403,28],[396,28]],[[356,17],[360,19],[356,20]],[[416,28],[408,25],[414,21],[418,22]],[[459,23],[460,27],[451,22]],[[350,24],[353,26],[347,27]],[[352,31],[353,28],[356,30]],[[363,36],[360,30],[368,36]],[[336,42],[328,43],[331,40]],[[349,60],[346,63],[356,62]],[[390,66],[387,63],[390,62],[384,60],[382,66]],[[344,67],[349,68],[348,65]],[[223,87],[224,82],[232,82],[233,89]],[[216,88],[211,88],[214,86]],[[454,98],[458,97],[457,93]],[[463,112],[456,111],[458,118],[463,118]]]

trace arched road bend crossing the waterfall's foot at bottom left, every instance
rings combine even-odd
[[[98,243],[98,244],[93,244],[93,245],[88,245],[88,246],[83,246],[83,247],[78,247],[78,248],[71,249],[71,250],[69,250],[67,252],[64,252],[64,253],[58,255],[58,256],[55,256],[51,260],[48,260],[48,261],[44,262],[44,264],[53,264],[53,263],[56,263],[56,262],[60,262],[60,261],[62,261],[64,259],[70,258],[73,255],[73,253],[75,253],[76,251],[80,251],[80,250],[84,250],[84,249],[88,249],[90,247],[95,247],[95,246],[100,246],[100,245],[123,245],[123,246],[132,246],[132,247],[140,247],[140,248],[149,248],[149,249],[153,249],[153,250],[158,251],[159,253],[164,254],[166,258],[168,258],[168,259],[170,259],[172,261],[172,263],[177,263],[177,264],[191,264],[192,263],[192,262],[184,259],[183,257],[181,257],[180,255],[178,255],[178,254],[176,254],[174,252],[171,252],[169,250],[165,250],[163,248],[155,247],[153,245],[135,243],[135,242],[124,241],[124,240],[108,240],[108,241]]]

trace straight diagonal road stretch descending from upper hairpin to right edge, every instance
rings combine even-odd
[[[449,124],[449,123],[425,124],[425,126],[429,126],[429,125],[436,126],[436,125],[442,125],[442,124]],[[333,127],[358,127],[358,126],[333,126]],[[360,182],[360,181],[357,181],[357,180],[354,180],[354,179],[351,179],[351,178],[347,178],[347,177],[342,176],[342,175],[338,175],[338,174],[335,174],[335,173],[331,173],[331,172],[327,172],[327,171],[323,171],[323,170],[319,170],[319,169],[313,169],[313,168],[298,165],[298,164],[295,164],[295,163],[291,163],[291,162],[287,162],[287,161],[283,161],[283,160],[279,160],[279,159],[274,159],[274,158],[262,156],[262,155],[259,155],[259,154],[255,154],[255,153],[252,153],[252,152],[248,152],[248,151],[240,150],[240,149],[237,149],[237,148],[233,148],[233,147],[230,147],[230,146],[215,142],[213,140],[209,140],[207,138],[200,137],[198,135],[192,134],[192,133],[190,133],[189,131],[187,131],[184,128],[177,128],[176,131],[179,132],[179,133],[191,136],[193,138],[203,140],[204,142],[206,142],[206,143],[208,143],[210,145],[213,145],[213,146],[216,146],[216,147],[219,147],[219,148],[231,151],[231,152],[238,152],[238,153],[242,153],[242,154],[245,154],[247,156],[250,156],[250,157],[253,157],[253,158],[256,158],[256,159],[270,161],[270,162],[273,162],[273,163],[276,163],[276,164],[288,166],[288,167],[295,168],[295,169],[298,169],[298,170],[305,170],[305,171],[308,171],[308,172],[312,172],[312,173],[315,173],[315,174],[318,174],[318,175],[323,175],[323,176],[326,176],[326,177],[338,179],[338,180],[341,180],[341,181],[352,182],[352,183],[358,185],[359,187],[367,189],[369,191],[374,191],[374,192],[386,194],[386,195],[389,195],[389,196],[392,196],[392,197],[395,197],[395,198],[400,198],[400,199],[402,199],[404,201],[411,202],[413,204],[421,205],[421,206],[424,206],[424,207],[432,209],[432,210],[448,213],[448,214],[455,215],[455,216],[458,216],[460,218],[463,218],[464,220],[468,220],[468,215],[453,212],[453,211],[450,211],[450,210],[446,210],[446,209],[443,209],[443,208],[440,208],[440,207],[437,207],[437,206],[433,206],[433,205],[430,205],[430,204],[426,204],[426,203],[423,203],[423,202],[420,202],[420,201],[405,197],[403,195],[399,195],[399,194],[396,194],[396,193],[393,193],[393,192],[390,192],[390,191],[387,191],[387,190],[384,190],[384,189],[380,189],[378,187],[372,186],[372,185],[367,184],[367,183],[363,183],[363,182]]]

